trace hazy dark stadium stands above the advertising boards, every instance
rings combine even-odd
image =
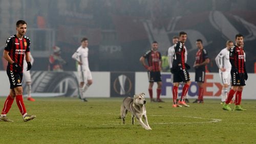
[[[32,70],[48,70],[54,45],[67,61],[63,69],[76,70],[71,56],[87,37],[92,71],[145,71],[139,58],[151,49],[151,42],[159,42],[164,56],[172,37],[185,31],[188,64],[194,63],[200,38],[211,60],[209,71],[218,72],[215,57],[227,40],[241,33],[247,71],[254,73],[255,6],[253,0],[0,0],[0,52],[16,34],[16,21],[23,19],[32,42]],[[3,63],[2,58],[0,70],[5,69]]]

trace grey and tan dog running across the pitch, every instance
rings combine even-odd
[[[121,118],[122,123],[125,123],[125,116],[127,114],[127,111],[130,111],[132,113],[132,124],[134,125],[134,117],[136,117],[140,123],[140,125],[146,129],[146,130],[152,130],[150,125],[148,125],[147,122],[147,116],[146,116],[146,101],[144,99],[145,93],[135,94],[134,98],[126,97],[123,100],[123,103],[121,104]],[[142,121],[142,116],[144,117],[144,121],[146,124]]]

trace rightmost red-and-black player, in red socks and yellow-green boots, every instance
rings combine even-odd
[[[246,110],[243,109],[240,104],[242,100],[242,91],[245,86],[245,81],[248,79],[245,60],[244,60],[244,49],[243,45],[243,35],[237,34],[235,37],[236,45],[232,46],[229,50],[229,61],[231,63],[231,81],[232,87],[228,92],[228,97],[223,105],[224,110],[232,110],[228,105],[233,98],[234,93],[236,95],[236,106],[234,110]]]

